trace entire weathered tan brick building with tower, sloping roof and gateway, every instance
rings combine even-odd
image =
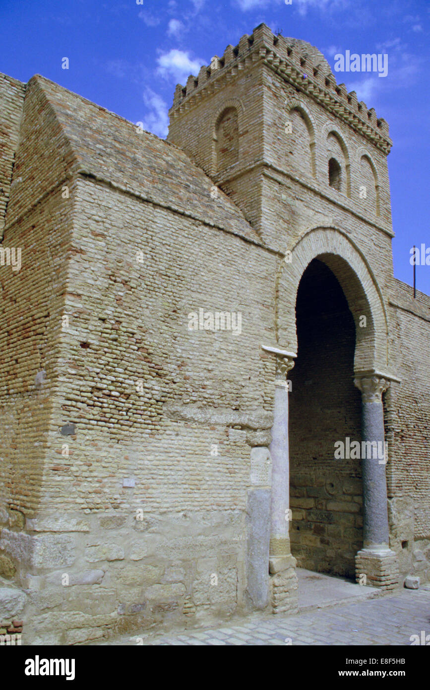
[[[430,298],[393,278],[387,123],[265,25],[176,88],[168,142],[43,77],[0,88],[22,248],[0,616],[23,644],[295,611],[296,562],[428,580]],[[200,308],[242,333],[189,331]],[[345,435],[385,438],[387,466],[336,466]]]

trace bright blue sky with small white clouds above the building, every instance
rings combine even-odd
[[[409,250],[430,246],[429,0],[0,0],[0,72],[39,73],[165,137],[176,83],[262,21],[332,69],[337,52],[387,53],[387,77],[335,76],[389,122],[394,273],[411,284]],[[430,294],[430,266],[417,287]]]

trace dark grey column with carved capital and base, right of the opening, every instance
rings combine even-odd
[[[390,383],[382,375],[370,374],[356,377],[354,384],[362,393],[362,451],[365,451],[361,460],[363,549],[356,555],[356,580],[380,589],[393,589],[399,575],[397,555],[389,549],[387,457],[374,453],[375,448],[385,449],[382,393]]]

